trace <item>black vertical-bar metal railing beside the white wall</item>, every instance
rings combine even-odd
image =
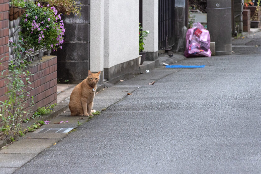
[[[170,49],[175,42],[175,1],[158,1],[158,48]]]

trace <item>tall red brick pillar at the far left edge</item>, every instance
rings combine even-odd
[[[8,0],[0,0],[0,63],[2,64],[0,66],[0,76],[4,70],[6,70],[6,72],[4,72],[3,75],[6,75],[8,71],[8,13]],[[0,77],[0,101],[7,99],[6,97],[3,97],[3,94],[7,92],[7,87],[4,84],[4,80],[5,79],[3,79],[3,77]]]

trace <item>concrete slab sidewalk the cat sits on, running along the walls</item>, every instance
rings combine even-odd
[[[171,64],[185,59],[182,54],[174,54],[173,57],[162,55],[156,61],[144,61],[140,66],[140,72],[152,70],[155,67],[163,66],[163,63]],[[170,71],[172,73],[172,71]],[[150,72],[153,75],[153,72]],[[115,85],[110,88],[102,88],[94,98],[94,109],[102,111],[103,108],[108,108],[112,104],[120,101],[126,97],[127,93],[132,93],[135,89],[152,82],[150,79],[143,79],[144,74],[138,75],[140,78],[122,79],[124,80],[120,85]],[[135,77],[135,75],[130,76]],[[159,77],[155,74],[155,77]],[[37,154],[44,149],[55,145],[62,140],[68,133],[54,133],[62,128],[71,128],[76,131],[76,128],[86,121],[91,121],[91,117],[71,117],[68,104],[70,95],[76,84],[58,84],[57,85],[57,106],[54,107],[50,115],[38,117],[33,122],[23,123],[23,129],[31,126],[37,120],[50,121],[40,127],[44,133],[28,132],[25,136],[20,137],[19,140],[9,144],[0,150],[0,173],[13,173],[16,169],[23,166],[25,163],[33,159]],[[95,116],[94,116],[95,117]],[[63,121],[63,122],[62,122]],[[54,124],[61,122],[60,124]],[[53,131],[50,128],[54,129]],[[48,131],[49,130],[49,131]]]

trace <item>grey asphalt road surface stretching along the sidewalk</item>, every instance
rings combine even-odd
[[[127,80],[158,78],[15,173],[260,173],[261,51],[251,49],[176,63],[204,68],[157,68]]]

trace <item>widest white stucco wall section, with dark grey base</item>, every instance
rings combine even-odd
[[[139,0],[104,0],[104,68],[139,57]]]

